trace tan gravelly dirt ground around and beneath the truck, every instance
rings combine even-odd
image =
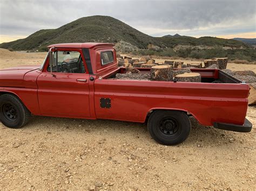
[[[0,68],[38,65],[45,53],[0,49]],[[233,70],[255,65],[228,63]],[[247,118],[256,125],[256,108]],[[256,130],[238,133],[191,118],[187,140],[159,145],[146,124],[32,116],[0,123],[0,189],[256,189]]]

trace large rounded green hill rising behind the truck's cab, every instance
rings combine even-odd
[[[120,40],[138,48],[146,48],[150,43],[159,45],[153,37],[133,29],[120,20],[109,16],[91,16],[77,19],[58,29],[37,31],[25,39],[0,44],[0,47],[21,51],[42,49],[56,43],[117,43]]]

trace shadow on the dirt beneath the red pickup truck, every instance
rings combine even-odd
[[[179,146],[226,145],[228,139],[237,136],[231,131],[200,125],[193,117],[191,117],[191,125],[190,136]],[[24,127],[24,131],[33,130],[42,133],[66,133],[70,136],[77,134],[85,137],[99,135],[111,139],[123,139],[124,142],[138,142],[141,140],[143,144],[145,142],[156,144],[147,131],[146,124],[133,122],[32,116],[29,124]]]

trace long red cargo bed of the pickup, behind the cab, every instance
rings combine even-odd
[[[150,68],[138,68],[149,73]],[[201,83],[146,80],[115,80],[125,68],[95,80],[97,118],[145,122],[152,110],[180,110],[192,114],[200,124],[245,121],[249,87],[219,69],[191,69],[201,74]],[[100,99],[111,102],[111,108],[100,107]],[[224,115],[225,114],[225,115]]]

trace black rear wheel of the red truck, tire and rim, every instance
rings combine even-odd
[[[191,123],[185,112],[154,111],[147,123],[151,137],[163,145],[177,145],[190,134]]]

